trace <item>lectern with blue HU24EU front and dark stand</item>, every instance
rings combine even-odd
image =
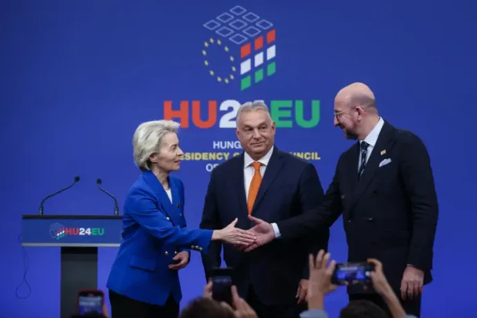
[[[120,215],[24,215],[24,247],[60,247],[60,317],[77,313],[77,293],[97,288],[97,248],[119,247]]]

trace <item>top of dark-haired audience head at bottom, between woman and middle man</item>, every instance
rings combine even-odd
[[[180,318],[235,318],[234,312],[205,297],[192,299],[180,312]]]

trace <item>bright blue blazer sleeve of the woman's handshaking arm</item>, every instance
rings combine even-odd
[[[134,221],[159,240],[184,247],[197,245],[202,248],[201,252],[207,252],[213,231],[173,226],[165,214],[158,210],[155,200],[146,191],[131,191],[124,207]]]

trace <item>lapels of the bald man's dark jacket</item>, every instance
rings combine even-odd
[[[368,162],[366,162],[366,167],[364,168],[363,174],[361,175],[361,178],[359,178],[359,181],[357,181],[353,198],[350,203],[350,208],[353,208],[356,205],[359,198],[362,197],[364,191],[366,191],[366,188],[371,183],[371,180],[373,180],[382,160],[381,151],[386,150],[386,152],[389,153],[391,147],[393,146],[394,138],[393,127],[387,122],[384,122],[384,126],[382,127],[375,147],[373,148],[373,152],[371,152],[371,156],[369,157]],[[357,165],[358,162],[356,159],[356,161],[353,163],[353,167],[355,167],[355,180],[357,180]],[[353,180],[353,178],[351,180]]]

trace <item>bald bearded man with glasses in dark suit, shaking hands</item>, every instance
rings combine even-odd
[[[276,224],[252,218],[259,237],[247,251],[329,227],[343,214],[348,261],[379,259],[406,313],[419,317],[422,286],[432,281],[438,220],[427,149],[415,134],[380,118],[373,93],[361,83],[339,91],[334,121],[358,142],[340,156],[323,205]],[[355,285],[348,294],[387,310],[373,290]]]

